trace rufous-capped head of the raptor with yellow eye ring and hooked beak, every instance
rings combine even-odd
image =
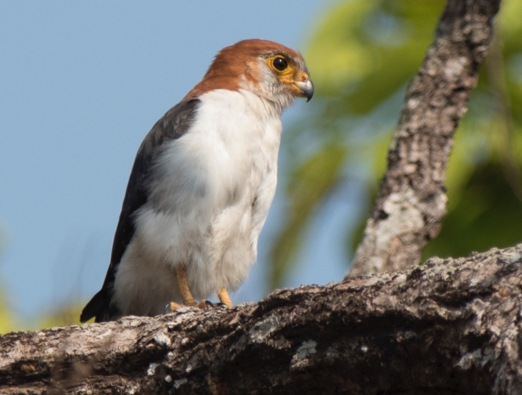
[[[295,97],[312,98],[314,85],[303,56],[267,40],[243,40],[223,48],[205,77],[185,98],[216,89],[246,90],[273,103],[280,111]]]

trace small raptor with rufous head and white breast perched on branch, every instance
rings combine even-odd
[[[202,307],[215,293],[232,306],[274,199],[281,114],[313,93],[287,46],[249,39],[219,51],[141,143],[105,280],[80,322]]]

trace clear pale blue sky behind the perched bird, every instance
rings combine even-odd
[[[263,38],[306,53],[331,4],[0,0],[0,286],[19,319],[86,302],[101,287],[138,146],[216,52]],[[313,101],[296,103],[283,125],[306,105]],[[280,189],[235,303],[266,293]],[[314,225],[322,236],[309,236],[287,286],[342,277],[335,218]]]

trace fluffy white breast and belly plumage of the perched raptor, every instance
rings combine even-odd
[[[237,288],[257,255],[274,198],[281,122],[247,91],[200,96],[196,121],[157,158],[148,203],[118,266],[123,314],[159,314],[179,300],[174,268],[187,266],[196,298]]]

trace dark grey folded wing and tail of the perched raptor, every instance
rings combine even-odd
[[[156,122],[141,143],[134,160],[125,198],[123,199],[120,220],[118,220],[118,226],[114,234],[111,263],[101,290],[92,297],[81,312],[81,322],[86,322],[92,317],[96,317],[96,322],[102,322],[110,320],[112,316],[118,314],[117,311],[114,311],[115,307],[111,306],[114,276],[116,268],[120,264],[122,256],[136,230],[133,214],[147,202],[146,180],[149,176],[152,161],[163,143],[180,138],[187,132],[192,125],[198,105],[198,99],[184,101],[175,105]]]

